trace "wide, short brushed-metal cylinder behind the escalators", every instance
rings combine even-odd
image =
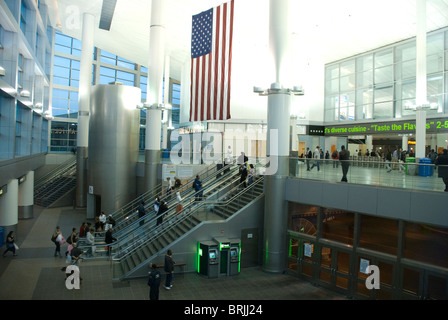
[[[125,85],[92,88],[88,185],[101,211],[135,199],[141,90]],[[98,210],[99,211],[99,210]]]

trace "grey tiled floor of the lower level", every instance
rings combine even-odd
[[[108,261],[84,261],[79,290],[65,286],[65,259],[55,258],[51,233],[59,225],[67,234],[81,225],[83,210],[43,209],[34,218],[20,220],[16,235],[20,249],[0,258],[0,300],[147,300],[146,279],[113,283]],[[65,246],[63,247],[65,249]],[[3,246],[2,252],[5,250]],[[62,250],[63,251],[63,250]],[[175,274],[173,288],[160,288],[160,300],[345,300],[289,275],[273,275],[260,268],[242,269],[232,277],[207,279],[193,273]]]

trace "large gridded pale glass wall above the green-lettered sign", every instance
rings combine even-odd
[[[448,31],[427,36],[427,115],[448,110]],[[331,63],[325,69],[325,122],[415,116],[416,40]]]

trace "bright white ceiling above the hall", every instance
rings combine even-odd
[[[104,0],[111,1],[111,0]],[[191,17],[227,0],[164,0],[170,75],[190,56]],[[329,63],[416,35],[417,0],[291,0],[296,56]],[[103,0],[47,0],[63,33],[80,39],[82,13],[95,16],[95,46],[147,66],[151,0],[117,0],[110,30],[99,28]],[[269,0],[235,0],[234,46],[267,50]],[[56,23],[55,23],[56,25]],[[427,0],[427,30],[448,26],[448,0]]]

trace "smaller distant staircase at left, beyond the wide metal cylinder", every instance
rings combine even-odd
[[[71,159],[34,184],[34,203],[48,207],[56,200],[76,188],[76,158]]]

